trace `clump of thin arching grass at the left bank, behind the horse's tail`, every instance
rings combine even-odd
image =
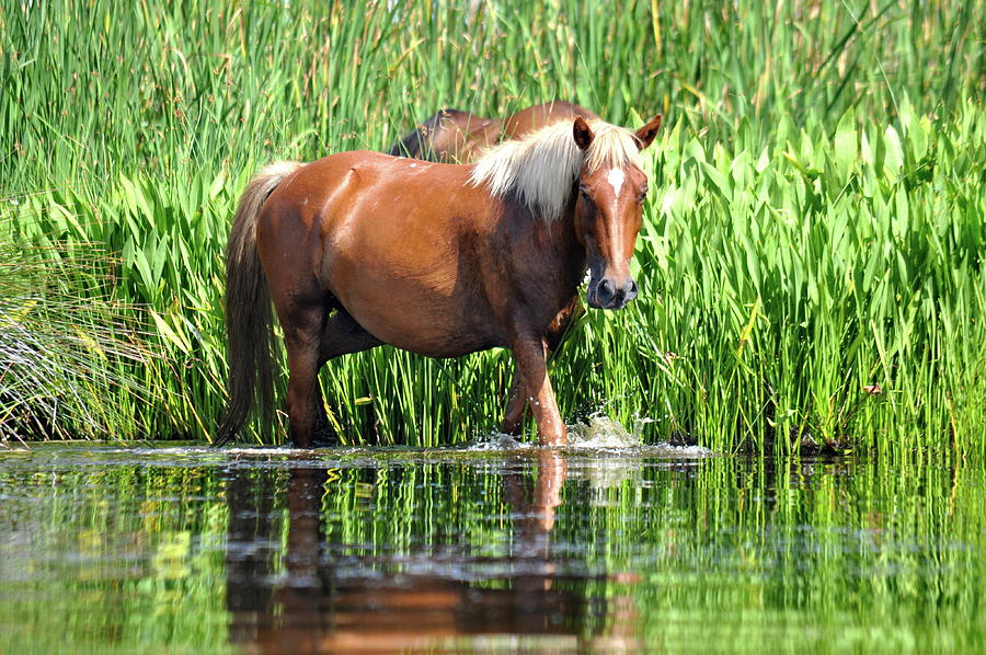
[[[134,423],[151,393],[128,369],[152,357],[133,308],[90,297],[107,284],[91,257],[106,253],[22,245],[0,239],[0,441],[102,438]]]

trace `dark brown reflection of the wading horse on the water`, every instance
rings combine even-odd
[[[527,652],[638,650],[629,636],[635,618],[630,599],[587,597],[591,585],[606,575],[558,573],[552,530],[567,463],[563,455],[546,450],[538,453],[538,466],[532,484],[520,470],[504,474],[504,499],[513,509],[508,555],[463,554],[451,562],[446,555],[428,566],[432,572],[390,579],[343,578],[326,556],[323,469],[290,472],[285,573],[275,575],[271,554],[280,531],[278,521],[267,517],[279,513],[270,495],[252,491],[256,483],[243,473],[228,493],[231,641],[253,652],[291,655],[456,652],[480,635],[528,637]],[[368,570],[379,563],[362,562]],[[346,566],[354,566],[352,560]],[[478,571],[463,575],[471,566]],[[482,573],[491,567],[496,573]],[[467,576],[472,582],[462,579]]]

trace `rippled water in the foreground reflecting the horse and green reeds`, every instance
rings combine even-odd
[[[986,651],[981,464],[604,443],[2,451],[0,652]]]

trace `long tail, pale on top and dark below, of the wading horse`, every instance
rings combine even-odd
[[[265,166],[240,197],[226,244],[226,331],[229,337],[229,405],[214,446],[222,446],[250,418],[259,402],[263,425],[274,422],[274,323],[271,294],[256,253],[256,218],[267,196],[302,164]]]

